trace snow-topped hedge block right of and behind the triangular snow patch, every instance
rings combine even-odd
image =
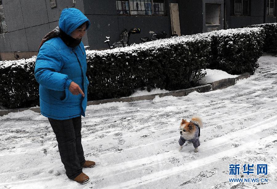
[[[259,67],[257,60],[263,53],[264,43],[262,28],[219,30],[210,35],[209,68],[223,70],[229,74],[253,74]]]

